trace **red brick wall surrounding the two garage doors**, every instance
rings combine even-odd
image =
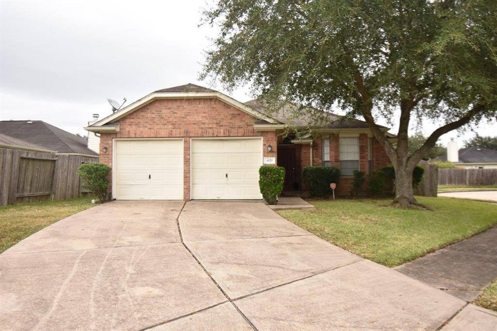
[[[276,158],[275,132],[256,132],[254,121],[253,116],[218,99],[155,100],[121,118],[118,133],[101,134],[100,162],[112,167],[114,138],[183,138],[183,198],[190,200],[190,137],[262,137],[263,156]],[[272,146],[271,152],[267,145]]]

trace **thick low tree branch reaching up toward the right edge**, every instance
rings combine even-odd
[[[438,141],[438,138],[440,138],[441,135],[446,134],[449,131],[455,130],[460,128],[461,126],[468,124],[471,118],[475,116],[476,114],[482,112],[485,110],[485,105],[482,103],[477,103],[464,114],[463,117],[458,119],[457,121],[450,122],[448,124],[445,124],[444,126],[439,127],[435,131],[431,133],[431,135],[426,139],[424,144],[414,152],[414,154],[409,158],[409,165],[414,168],[415,165],[421,160],[421,158],[428,153],[430,149],[435,146],[436,142]]]

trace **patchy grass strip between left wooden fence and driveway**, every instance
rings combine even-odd
[[[0,207],[0,253],[65,217],[93,207],[92,197]]]

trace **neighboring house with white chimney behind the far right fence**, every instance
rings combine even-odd
[[[439,156],[430,161],[448,161],[456,167],[464,169],[497,168],[497,151],[477,146],[458,150],[457,142],[451,139],[447,144],[447,155]]]

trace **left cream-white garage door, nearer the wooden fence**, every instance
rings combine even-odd
[[[183,199],[183,140],[116,140],[114,148],[116,199]]]

